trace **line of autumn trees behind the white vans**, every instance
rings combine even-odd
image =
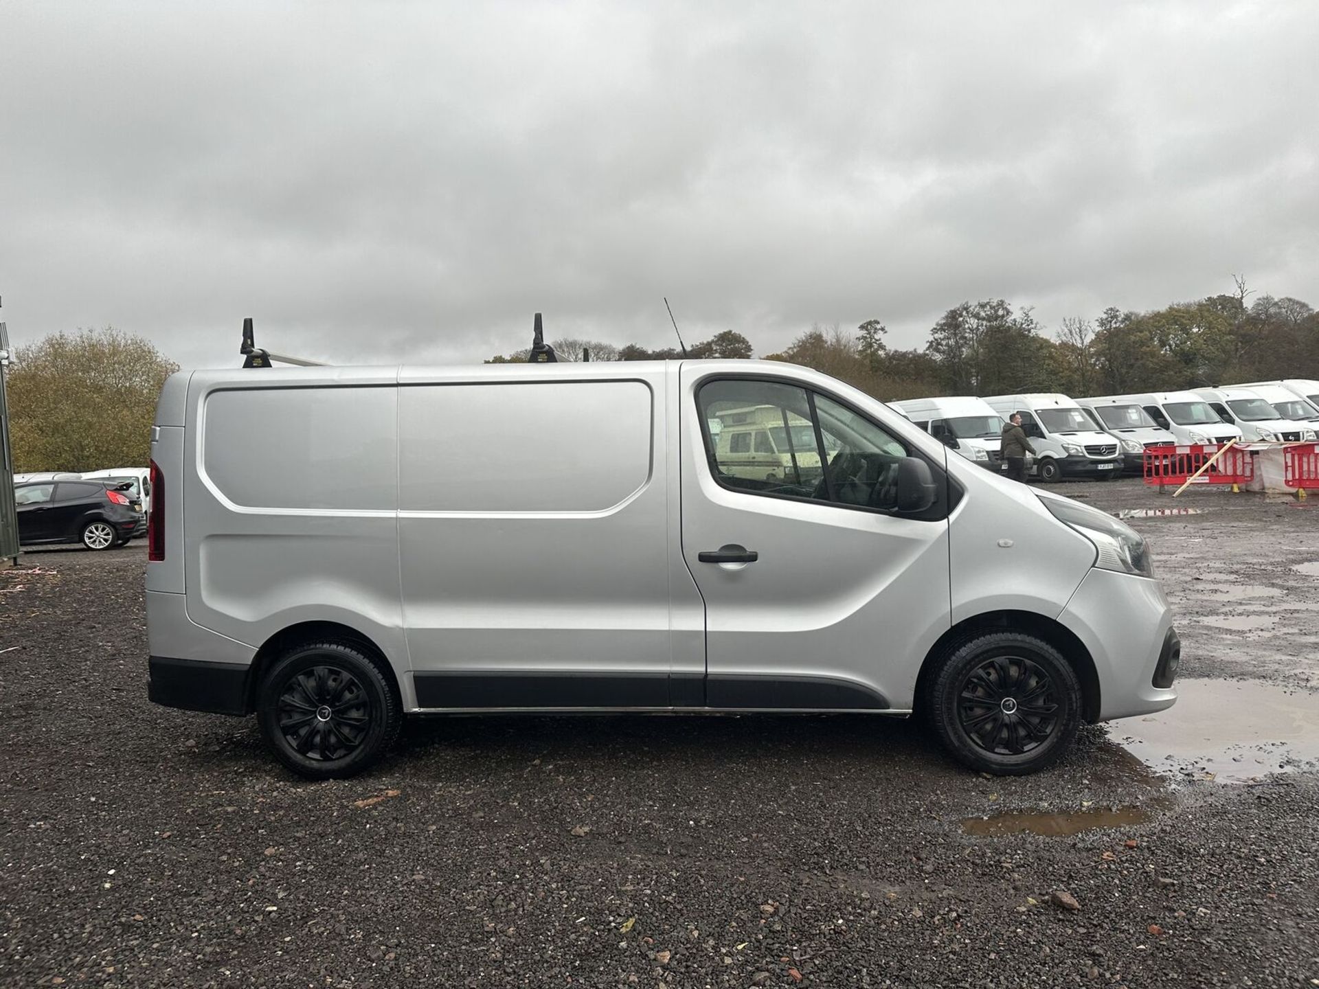
[[[869,319],[855,330],[815,324],[787,347],[762,355],[802,364],[884,401],[943,394],[1062,392],[1076,397],[1171,392],[1239,381],[1319,378],[1319,314],[1295,298],[1253,295],[1242,280],[1232,294],[1134,313],[1108,307],[1068,316],[1053,334],[1029,307],[1005,299],[963,302],[930,328],[925,347],[888,347],[888,330]],[[561,360],[663,360],[650,351],[598,340],[557,340]],[[526,351],[495,361],[526,360]],[[732,330],[687,348],[691,357],[749,357],[752,343]]]

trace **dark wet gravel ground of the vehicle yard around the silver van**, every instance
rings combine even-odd
[[[1060,489],[1111,510],[1203,509],[1133,521],[1187,673],[1319,704],[1303,690],[1319,579],[1290,568],[1319,558],[1319,510]],[[1319,980],[1314,771],[1170,782],[1103,728],[1047,773],[991,779],[909,723],[472,717],[412,724],[369,774],[305,783],[251,720],[146,702],[144,549],[25,563],[54,572],[0,571],[4,985]],[[1277,593],[1215,589],[1239,585]],[[1146,820],[1071,837],[962,828],[1108,807]]]

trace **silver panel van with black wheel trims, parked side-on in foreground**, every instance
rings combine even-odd
[[[725,469],[762,406],[827,469]],[[1141,535],[777,361],[181,372],[152,494],[150,699],[307,777],[530,711],[921,711],[1021,774],[1177,696]]]

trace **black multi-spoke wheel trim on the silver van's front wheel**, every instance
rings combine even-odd
[[[984,659],[958,690],[958,724],[972,745],[993,756],[1024,756],[1045,745],[1058,716],[1053,678],[1025,657]]]

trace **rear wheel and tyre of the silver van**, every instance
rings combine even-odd
[[[393,684],[352,642],[299,645],[276,659],[259,686],[256,713],[276,758],[307,779],[360,773],[402,724]]]

